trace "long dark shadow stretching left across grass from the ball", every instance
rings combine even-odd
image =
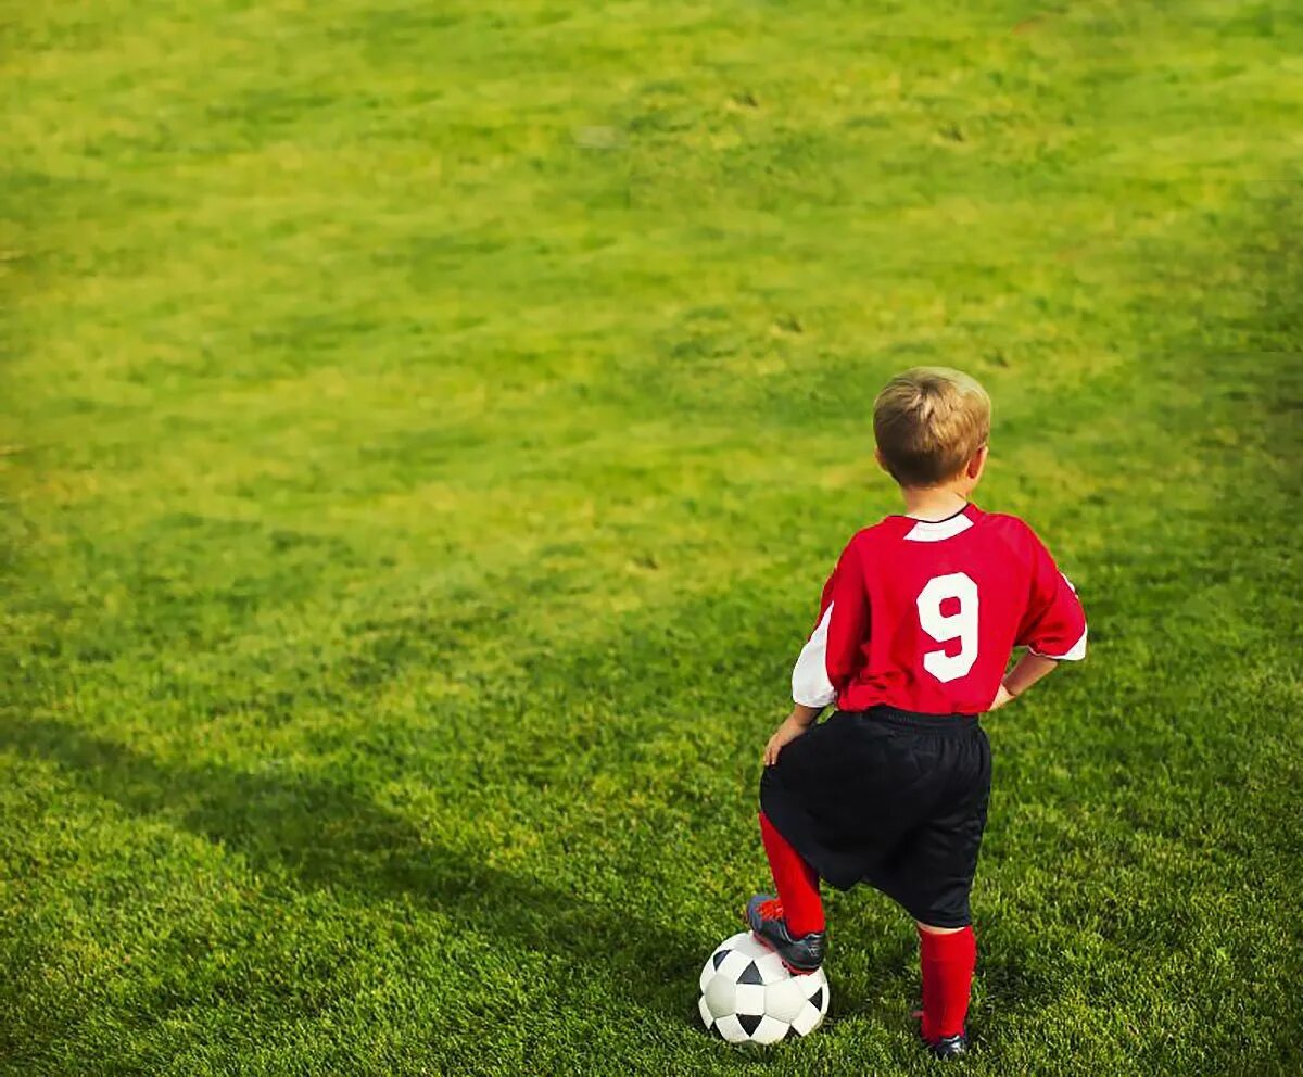
[[[9,721],[0,748],[55,762],[83,790],[176,822],[313,888],[408,897],[460,927],[642,983],[696,979],[702,940],[581,893],[474,862],[345,787],[202,763],[164,764],[48,719]]]

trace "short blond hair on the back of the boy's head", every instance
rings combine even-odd
[[[873,402],[873,436],[900,486],[938,486],[958,475],[990,436],[990,397],[945,366],[898,374]]]

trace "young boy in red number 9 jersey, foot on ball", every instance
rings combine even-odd
[[[909,370],[878,395],[874,455],[904,513],[856,534],[823,587],[796,706],[765,746],[760,827],[778,897],[747,906],[762,942],[813,972],[820,879],[900,904],[919,927],[920,1033],[941,1057],[968,1048],[968,895],[990,793],[977,715],[1085,656],[1081,604],[1032,529],[968,501],[989,432],[990,400],[959,371]],[[1006,675],[1014,647],[1027,651]]]

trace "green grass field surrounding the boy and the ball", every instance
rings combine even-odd
[[[814,1037],[693,1016],[921,362],[1092,619],[962,1072],[1299,1072],[1303,9],[3,22],[0,1072],[933,1072],[873,892]]]

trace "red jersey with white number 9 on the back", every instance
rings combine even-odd
[[[792,698],[863,711],[980,714],[1014,647],[1085,658],[1085,613],[1036,533],[966,505],[946,520],[889,516],[856,534],[823,587]]]

